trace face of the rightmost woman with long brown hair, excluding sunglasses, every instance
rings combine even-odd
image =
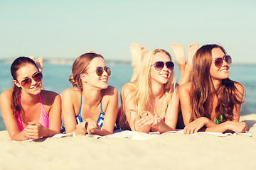
[[[220,64],[220,66],[215,66],[215,60],[224,57],[225,53],[220,50],[220,48],[213,48],[212,50],[212,56],[213,56],[213,62],[210,66],[210,77],[212,79],[227,79],[229,77],[229,64],[227,61],[223,60],[223,64]]]

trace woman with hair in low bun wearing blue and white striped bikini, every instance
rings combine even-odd
[[[117,118],[118,93],[107,86],[111,71],[101,55],[85,53],[73,63],[70,82],[63,92],[65,132],[76,135],[110,135]]]

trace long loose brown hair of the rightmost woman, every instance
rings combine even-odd
[[[215,109],[215,118],[220,120],[220,115],[225,122],[226,120],[233,120],[234,109],[237,109],[243,101],[239,98],[240,91],[235,84],[240,84],[232,81],[229,78],[223,79],[219,91],[215,91],[213,81],[210,77],[210,66],[213,61],[212,50],[219,48],[227,55],[225,49],[220,45],[203,45],[199,48],[193,57],[193,72],[191,78],[191,106],[192,115],[191,121],[196,118],[206,117],[210,118],[210,113]],[[242,86],[242,84],[240,84]],[[243,86],[242,86],[243,87]],[[245,89],[244,89],[245,91]],[[213,96],[218,96],[218,104],[213,108]]]

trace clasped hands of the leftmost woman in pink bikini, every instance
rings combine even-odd
[[[28,137],[28,139],[39,139],[43,137],[46,127],[34,120],[28,123],[24,130],[25,136]]]

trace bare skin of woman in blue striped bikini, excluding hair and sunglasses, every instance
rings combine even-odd
[[[95,134],[110,135],[114,129],[117,118],[118,92],[113,86],[108,86],[109,75],[104,70],[98,76],[97,67],[106,67],[102,57],[95,57],[87,66],[86,72],[80,74],[82,81],[82,94],[76,88],[66,89],[63,92],[63,121],[66,132],[75,132],[76,135]],[[82,97],[81,117],[83,122],[76,124],[75,117],[80,111]],[[97,124],[100,115],[100,101],[105,113],[103,127]]]

